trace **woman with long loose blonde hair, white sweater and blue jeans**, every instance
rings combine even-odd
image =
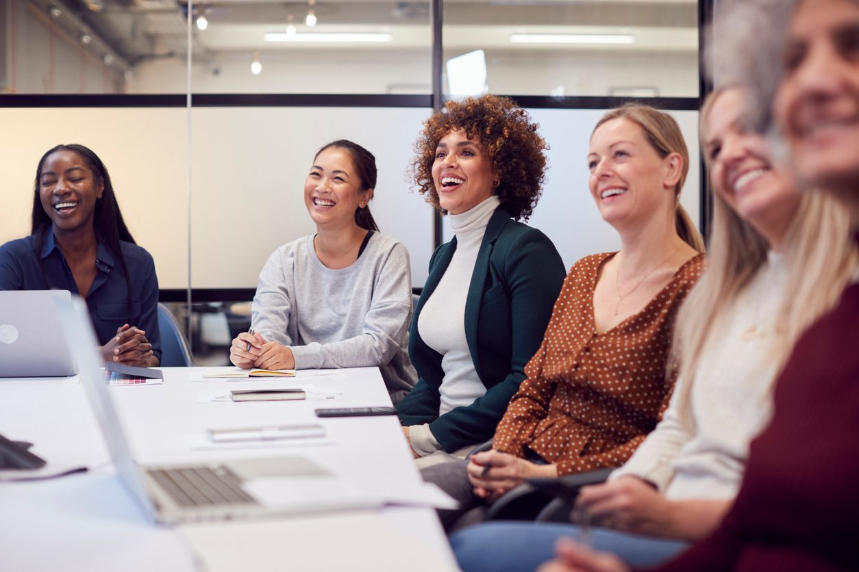
[[[828,196],[801,195],[771,165],[764,138],[743,127],[746,99],[740,88],[718,90],[701,112],[715,212],[707,271],[677,320],[671,404],[609,482],[584,488],[577,501],[600,525],[596,548],[631,566],[661,563],[718,525],[749,443],[771,418],[773,382],[791,347],[836,304],[856,268],[847,214]],[[466,572],[489,569],[478,557],[489,542],[500,551],[493,570],[533,569],[556,539],[579,533],[570,525],[480,528],[452,540]]]

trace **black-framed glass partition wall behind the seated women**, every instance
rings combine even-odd
[[[0,242],[29,232],[36,163],[60,142],[110,169],[161,300],[195,358],[224,363],[249,322],[259,269],[314,232],[302,199],[315,151],[346,138],[375,154],[370,203],[411,255],[413,286],[448,238],[411,190],[423,120],[445,99],[500,93],[551,146],[530,224],[576,258],[613,248],[582,156],[605,109],[672,111],[697,151],[694,0],[0,0]],[[580,168],[581,167],[581,168]],[[698,164],[684,203],[706,221]]]

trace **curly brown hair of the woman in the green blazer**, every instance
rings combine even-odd
[[[411,161],[411,175],[417,191],[440,213],[447,214],[438,201],[432,179],[436,147],[452,130],[465,131],[468,139],[478,138],[492,161],[492,173],[499,183],[495,194],[515,220],[528,220],[543,190],[549,146],[537,133],[539,125],[512,99],[484,95],[462,101],[448,101],[442,111],[423,123],[415,141],[417,156]]]

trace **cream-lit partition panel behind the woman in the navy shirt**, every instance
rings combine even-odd
[[[161,288],[188,284],[187,113],[173,108],[0,108],[0,243],[30,232],[40,157],[58,143],[107,166],[131,235],[155,258]]]

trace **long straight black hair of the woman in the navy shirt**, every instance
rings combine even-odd
[[[45,166],[45,161],[48,156],[57,153],[58,151],[71,151],[77,154],[84,163],[87,164],[89,170],[93,172],[94,184],[98,187],[99,184],[104,184],[104,191],[101,193],[101,199],[95,202],[95,210],[93,217],[93,227],[95,239],[104,244],[107,250],[113,252],[119,261],[119,267],[122,268],[125,274],[125,285],[128,288],[128,303],[131,305],[131,277],[128,274],[128,268],[125,266],[125,258],[122,256],[122,249],[119,246],[120,240],[125,240],[131,244],[137,244],[134,238],[131,237],[128,227],[125,226],[125,220],[122,218],[122,213],[119,212],[119,203],[116,201],[116,195],[113,193],[113,184],[110,180],[110,174],[107,172],[107,167],[101,162],[99,156],[94,154],[89,148],[82,145],[58,145],[55,148],[49,149],[46,154],[42,155],[39,160],[39,166],[36,167],[36,181],[34,184],[33,193],[33,225],[30,234],[36,238],[36,256],[40,256],[42,245],[45,244],[47,232],[52,231],[53,223],[42,207],[42,202],[39,196],[40,180],[42,178],[42,169]],[[39,258],[41,268],[41,257]],[[42,275],[45,277],[46,284],[48,283],[45,269],[42,269]],[[50,287],[51,285],[48,284]],[[81,292],[85,294],[86,292]]]

